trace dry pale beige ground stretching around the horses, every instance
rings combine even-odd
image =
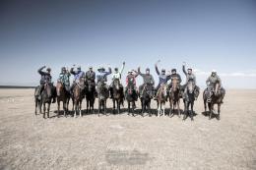
[[[256,90],[226,90],[221,121],[202,114],[200,95],[194,122],[127,113],[57,118],[56,104],[44,120],[33,113],[32,94],[0,89],[0,169],[256,169]]]

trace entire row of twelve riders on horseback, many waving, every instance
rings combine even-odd
[[[196,84],[196,76],[193,73],[193,69],[192,68],[187,68],[186,69],[186,63],[183,62],[182,65],[182,70],[183,73],[186,77],[186,81],[184,85],[181,85],[181,77],[180,75],[177,73],[176,69],[172,69],[169,72],[166,73],[165,69],[161,69],[159,70],[158,64],[160,61],[158,61],[155,65],[155,69],[156,72],[158,74],[159,77],[159,84],[157,85],[157,87],[155,88],[155,80],[154,77],[151,74],[151,71],[149,68],[146,69],[146,73],[141,73],[141,69],[140,67],[138,68],[138,70],[130,70],[126,76],[126,87],[123,90],[123,97],[125,97],[125,94],[127,93],[127,86],[128,85],[133,85],[135,88],[134,90],[136,91],[136,93],[139,95],[139,97],[142,96],[143,94],[143,90],[145,88],[146,85],[151,85],[153,88],[152,90],[155,93],[155,96],[158,95],[158,92],[160,91],[160,86],[161,85],[166,85],[167,89],[171,89],[171,83],[167,84],[169,81],[172,82],[174,79],[178,80],[179,83],[179,88],[183,89],[180,90],[182,91],[180,93],[180,97],[185,98],[185,93],[186,93],[186,85],[188,83],[192,83],[195,86],[195,90],[199,90],[199,87]],[[79,82],[81,81],[81,79],[83,78],[83,80],[85,80],[85,85],[88,85],[89,82],[91,83],[91,85],[94,86],[94,88],[96,89],[96,93],[98,92],[97,89],[97,85],[99,83],[103,83],[102,85],[104,85],[107,89],[109,89],[110,92],[110,98],[113,97],[113,82],[114,81],[119,81],[120,83],[120,87],[123,89],[123,85],[121,85],[121,76],[123,74],[123,70],[125,67],[125,62],[122,63],[122,66],[120,69],[118,68],[114,68],[114,72],[112,73],[111,68],[108,66],[108,70],[106,71],[104,67],[99,67],[97,69],[97,73],[93,70],[93,67],[89,67],[89,70],[85,73],[84,71],[81,70],[81,66],[75,66],[73,65],[73,67],[68,70],[67,67],[62,67],[61,68],[61,73],[59,74],[58,77],[58,82],[60,82],[62,85],[65,86],[66,91],[72,96],[73,95],[73,89],[74,86],[79,84]],[[56,101],[56,88],[54,85],[52,85],[52,77],[51,77],[51,69],[50,68],[46,68],[46,72],[44,72],[43,70],[46,68],[46,66],[43,66],[41,68],[38,69],[38,74],[41,76],[40,79],[40,85],[36,90],[35,95],[38,96],[38,98],[41,97],[41,92],[43,90],[43,87],[45,84],[50,85],[51,89],[52,89],[52,98],[53,101],[52,103],[54,103]],[[107,76],[112,74],[112,83],[108,86],[106,84],[107,82]],[[70,77],[71,75],[74,76],[74,81],[73,84],[70,85]],[[141,76],[143,78],[143,85],[139,86],[139,89],[136,87],[136,78],[138,76]],[[220,85],[220,87],[222,87],[222,81],[220,79],[220,77],[217,74],[217,71],[213,70],[210,77],[207,79],[206,81],[207,84],[207,89],[215,92],[215,87],[216,85]],[[198,96],[195,96],[195,99],[197,99]],[[137,96],[138,98],[138,96]],[[136,99],[137,100],[137,99]]]

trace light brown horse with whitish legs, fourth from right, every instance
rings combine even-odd
[[[167,97],[166,85],[161,84],[159,90],[157,91],[157,101],[158,101],[158,117],[160,114],[165,116],[165,101]]]

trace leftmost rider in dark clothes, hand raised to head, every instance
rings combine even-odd
[[[38,95],[38,98],[40,99],[41,98],[41,92],[43,90],[43,87],[45,84],[48,84],[51,86],[51,89],[52,89],[52,93],[53,93],[53,101],[52,103],[55,103],[56,102],[56,91],[55,91],[55,88],[54,86],[52,85],[51,83],[51,75],[50,75],[50,72],[51,72],[51,69],[50,68],[47,68],[46,69],[46,72],[43,72],[42,70],[45,69],[46,66],[43,66],[41,68],[38,69],[38,74],[41,76],[41,79],[40,79],[40,85],[38,87],[38,90],[36,91],[36,95]]]

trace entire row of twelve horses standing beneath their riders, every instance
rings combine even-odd
[[[149,116],[152,116],[151,102],[152,99],[155,99],[158,102],[158,117],[165,116],[165,104],[169,101],[169,113],[168,116],[172,117],[174,115],[174,111],[177,110],[177,114],[180,117],[181,109],[180,109],[180,100],[183,97],[184,103],[184,112],[183,112],[183,120],[185,120],[188,116],[193,120],[194,111],[194,101],[195,98],[199,95],[199,89],[195,87],[192,82],[188,82],[188,84],[183,88],[179,85],[178,80],[173,80],[171,85],[160,85],[157,93],[154,91],[153,85],[144,85],[141,94],[138,94],[137,88],[135,85],[127,85],[126,90],[124,92],[122,85],[119,80],[114,80],[112,83],[112,102],[113,108],[112,112],[115,114],[116,112],[120,114],[120,106],[123,105],[124,100],[126,99],[128,104],[128,113],[134,116],[135,113],[135,102],[138,98],[141,101],[141,115],[144,116],[144,113],[147,111]],[[168,87],[171,86],[171,87]],[[97,88],[97,90],[96,90]],[[49,110],[50,104],[53,97],[53,91],[51,90],[51,85],[45,84],[43,90],[41,92],[41,97],[35,95],[35,115],[37,114],[37,109],[39,109],[41,113],[41,107],[43,106],[43,118],[45,118],[45,114],[47,113],[47,117],[49,118]],[[35,89],[36,91],[36,89]],[[56,85],[56,94],[57,94],[57,116],[60,116],[60,103],[63,103],[63,111],[64,116],[67,116],[69,112],[69,101],[72,99],[74,111],[74,117],[77,117],[77,114],[82,116],[82,101],[84,98],[87,100],[87,113],[95,112],[95,101],[96,97],[98,98],[98,109],[97,114],[106,114],[106,101],[109,98],[109,88],[105,83],[99,82],[95,85],[94,82],[85,82],[85,80],[81,79],[78,83],[75,83],[74,88],[72,90],[72,94],[69,93],[65,89],[65,86],[58,82]],[[155,96],[156,95],[156,96]],[[207,106],[209,109],[209,119],[211,119],[212,114],[214,113],[214,105],[218,104],[218,116],[220,119],[221,113],[221,104],[224,99],[224,91],[223,88],[219,88],[217,85],[216,90],[204,90],[203,94],[205,112],[207,111]]]

